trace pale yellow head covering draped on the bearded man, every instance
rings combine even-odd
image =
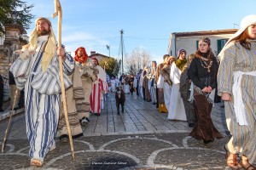
[[[53,31],[52,26],[51,26],[51,22],[48,19],[44,18],[44,17],[39,17],[35,22],[36,27],[32,31],[32,34],[31,34],[30,40],[29,40],[30,44],[32,45],[32,48],[36,49],[37,45],[38,45],[38,33],[37,33],[37,22],[38,22],[38,20],[46,21],[49,24],[49,29],[50,29],[49,39],[48,39],[48,42],[46,44],[44,54],[43,54],[43,58],[42,58],[42,61],[41,61],[42,70],[43,70],[43,72],[45,72],[47,70],[47,67],[49,65],[50,60],[53,58],[53,56],[55,56],[56,38],[55,38],[55,34],[54,34],[54,31]]]

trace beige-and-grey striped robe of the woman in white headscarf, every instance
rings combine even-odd
[[[235,71],[244,73],[256,71],[256,41],[247,41],[251,42],[251,50],[241,47],[239,42],[230,42],[227,45],[221,56],[217,81],[218,95],[228,93],[232,96],[231,101],[224,102],[227,127],[232,135],[226,147],[230,153],[247,156],[249,162],[253,164],[253,161],[256,161],[256,77],[246,74],[241,76],[241,99],[248,125],[238,123],[232,92]]]

